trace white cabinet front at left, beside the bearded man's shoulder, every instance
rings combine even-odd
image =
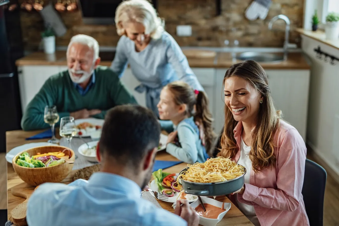
[[[59,66],[25,65],[18,68],[21,108],[24,112],[27,104],[38,93],[44,82],[59,73]]]

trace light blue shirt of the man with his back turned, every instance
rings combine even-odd
[[[132,180],[97,172],[86,181],[68,185],[45,183],[27,203],[29,226],[151,226],[187,225],[174,213],[159,209],[140,197]]]

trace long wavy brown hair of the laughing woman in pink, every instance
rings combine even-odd
[[[263,103],[260,104],[257,124],[252,131],[251,151],[249,158],[252,162],[252,168],[255,172],[273,167],[276,163],[274,155],[274,136],[279,127],[281,111],[277,111],[273,104],[270,87],[268,86],[267,75],[264,69],[255,61],[244,61],[232,65],[225,74],[225,80],[238,76],[249,82],[263,97]],[[221,152],[218,156],[233,158],[238,151],[233,129],[237,125],[233,114],[225,104],[225,126],[221,137]]]

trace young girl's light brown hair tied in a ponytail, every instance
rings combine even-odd
[[[216,135],[212,128],[213,117],[208,108],[208,98],[205,92],[199,91],[196,96],[193,88],[185,82],[176,81],[165,86],[173,94],[174,102],[177,105],[186,104],[186,114],[193,116],[195,122],[203,124],[205,135],[205,149],[208,152]],[[195,106],[195,109],[194,109]]]

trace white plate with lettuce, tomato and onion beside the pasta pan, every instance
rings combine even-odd
[[[178,199],[186,199],[189,202],[194,202],[198,199],[197,196],[181,191],[181,186],[177,184],[178,173],[167,173],[159,169],[153,172],[152,175],[154,180],[149,185],[149,188],[167,196],[168,201],[166,202],[175,203]],[[154,196],[153,192],[149,192]]]

